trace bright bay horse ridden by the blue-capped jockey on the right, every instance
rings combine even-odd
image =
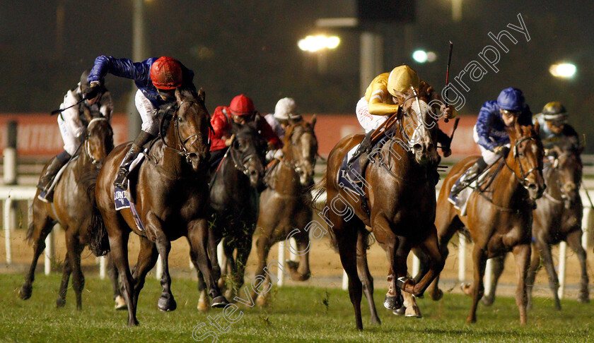
[[[467,227],[474,241],[472,260],[474,263],[474,283],[467,287],[472,294],[472,309],[468,323],[477,321],[477,304],[484,293],[483,276],[488,258],[513,251],[516,257],[518,288],[516,304],[520,309],[520,324],[526,323],[526,273],[530,263],[530,232],[532,227],[532,206],[534,200],[544,191],[542,178],[542,143],[538,130],[532,126],[508,128],[513,152],[489,169],[491,176],[481,186],[480,191],[472,192],[468,200],[467,214],[460,215],[449,201],[450,189],[477,157],[467,157],[456,164],[443,181],[437,202],[436,227],[439,246],[443,258],[448,256],[448,242],[456,231]],[[441,299],[443,292],[438,289],[438,278],[429,289],[433,299]]]

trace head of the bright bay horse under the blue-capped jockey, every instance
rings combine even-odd
[[[534,126],[520,126],[516,123],[513,128],[506,128],[512,152],[506,163],[515,165],[513,172],[522,186],[528,190],[530,198],[536,200],[544,192],[544,178],[542,177],[542,158],[544,148]]]

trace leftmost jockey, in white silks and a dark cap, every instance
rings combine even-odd
[[[98,88],[98,92],[91,99],[87,98],[87,100],[78,104],[83,100],[83,94],[89,88],[87,82],[88,73],[89,71],[83,71],[81,81],[76,88],[66,92],[64,102],[60,105],[60,109],[64,109],[64,111],[58,115],[58,126],[62,134],[62,141],[64,141],[64,151],[52,159],[37,185],[37,188],[41,190],[37,198],[46,203],[50,201],[48,191],[56,174],[76,154],[78,147],[85,139],[86,126],[88,125],[87,117],[84,115],[85,112],[90,114],[100,113],[101,116],[111,121],[113,102],[110,92],[106,88]],[[65,109],[66,107],[70,108]]]

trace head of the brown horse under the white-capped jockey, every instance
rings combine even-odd
[[[290,122],[284,138],[284,158],[299,175],[301,186],[305,187],[313,185],[313,169],[318,156],[318,139],[314,127],[315,115],[311,124],[305,120]]]

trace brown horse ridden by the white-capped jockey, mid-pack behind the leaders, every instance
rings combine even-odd
[[[264,272],[272,245],[291,236],[295,239],[299,263],[286,261],[291,278],[305,281],[310,277],[309,233],[303,231],[311,221],[313,210],[309,188],[313,186],[315,160],[318,155],[318,139],[315,137],[315,116],[311,124],[306,121],[291,122],[284,137],[283,157],[266,178],[268,188],[260,195],[260,216],[257,227],[260,236],[256,239],[258,267],[256,275],[270,277]],[[295,231],[296,230],[296,231]],[[294,231],[293,234],[291,232]],[[253,299],[266,303],[268,293],[262,298],[253,292]]]

